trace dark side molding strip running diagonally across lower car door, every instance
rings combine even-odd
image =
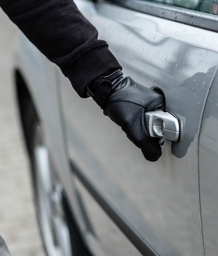
[[[135,228],[125,219],[99,190],[96,185],[76,166],[73,160],[70,160],[70,167],[73,173],[79,178],[86,189],[91,193],[94,199],[99,203],[102,209],[107,213],[112,221],[119,227],[124,235],[132,244],[142,253],[143,256],[159,256],[158,253],[145,241],[145,239],[135,230]]]

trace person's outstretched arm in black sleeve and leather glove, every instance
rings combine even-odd
[[[72,0],[0,0],[0,6],[29,40],[60,67],[81,97],[88,97],[86,89],[99,77],[107,79],[105,73],[122,68]],[[124,130],[146,159],[157,160],[161,148],[157,139],[149,136],[144,118],[146,111],[164,108],[164,97],[130,78],[120,76],[119,83],[112,83],[106,97],[100,90],[104,86],[98,86],[94,98],[104,98],[99,104],[104,114]]]

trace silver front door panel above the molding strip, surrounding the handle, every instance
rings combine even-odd
[[[211,41],[218,36],[106,3],[76,4],[124,75],[161,88],[167,109],[185,117],[186,130],[183,141],[166,141],[161,158],[148,162],[92,99],[80,99],[61,77],[70,158],[159,255],[202,255],[197,134],[216,73],[218,49]]]

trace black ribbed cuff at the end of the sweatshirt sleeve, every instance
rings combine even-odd
[[[86,98],[86,86],[111,69],[122,69],[108,46],[98,46],[75,59],[65,74],[80,97]]]

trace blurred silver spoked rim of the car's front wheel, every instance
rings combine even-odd
[[[46,252],[48,256],[72,256],[63,187],[55,175],[40,121],[31,124],[29,136],[37,217]]]

